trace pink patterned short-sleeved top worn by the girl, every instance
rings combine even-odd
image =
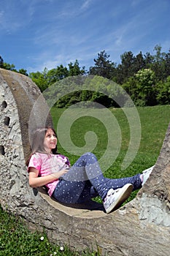
[[[69,165],[69,159],[61,154],[44,154],[36,152],[31,156],[28,172],[30,167],[34,167],[36,170],[39,170],[39,176],[47,176],[51,173],[56,173],[59,170],[66,169]],[[52,196],[58,182],[59,180],[57,179],[45,185],[50,196]]]

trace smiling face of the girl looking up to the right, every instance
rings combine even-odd
[[[52,153],[52,149],[57,145],[57,138],[53,129],[47,129],[45,134],[44,146],[47,153]]]

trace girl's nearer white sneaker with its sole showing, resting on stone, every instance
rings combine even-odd
[[[125,184],[121,189],[109,189],[104,200],[104,208],[107,214],[113,211],[131,195],[134,186],[132,184]]]

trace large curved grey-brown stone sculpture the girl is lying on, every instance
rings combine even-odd
[[[0,69],[1,206],[24,217],[32,229],[45,227],[51,241],[61,241],[77,250],[88,246],[98,248],[101,255],[168,256],[170,126],[155,168],[134,200],[108,215],[98,203],[71,208],[48,197],[43,189],[28,186],[28,121],[39,95],[30,78]],[[43,99],[42,110],[47,114]],[[45,121],[41,113],[35,113],[38,124]],[[50,116],[47,121],[52,123]]]

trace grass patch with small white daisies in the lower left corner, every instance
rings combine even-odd
[[[0,207],[0,255],[12,256],[97,256],[95,252],[73,252],[69,246],[50,244],[46,233],[32,233],[23,220],[2,210]]]

